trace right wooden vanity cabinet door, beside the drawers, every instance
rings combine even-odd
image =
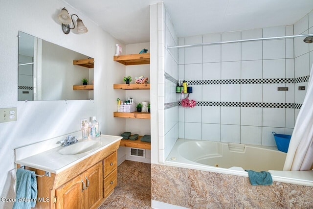
[[[94,209],[103,201],[102,162],[89,168],[84,174],[86,189],[84,190],[85,209]]]

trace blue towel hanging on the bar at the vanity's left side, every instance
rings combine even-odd
[[[16,201],[13,209],[34,208],[37,199],[37,179],[34,171],[17,169]]]

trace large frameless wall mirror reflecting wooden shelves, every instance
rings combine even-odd
[[[93,58],[19,31],[18,100],[66,99],[93,99]]]

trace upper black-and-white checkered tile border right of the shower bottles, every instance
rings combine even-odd
[[[226,80],[192,80],[188,85],[208,84],[272,84],[272,83],[302,83],[309,81],[309,75],[299,78],[258,78],[258,79],[226,79]]]

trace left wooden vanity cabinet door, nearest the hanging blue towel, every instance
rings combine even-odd
[[[83,176],[79,175],[56,189],[56,209],[83,209]]]

